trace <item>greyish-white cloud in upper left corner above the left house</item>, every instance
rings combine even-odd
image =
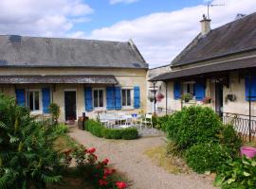
[[[1,0],[0,8],[2,34],[58,37],[94,11],[82,0]]]

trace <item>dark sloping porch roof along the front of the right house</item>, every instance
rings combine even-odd
[[[256,67],[256,57],[243,60],[227,60],[221,63],[214,63],[205,66],[198,66],[179,71],[168,72],[157,77],[149,79],[149,81],[166,81],[184,77],[201,77],[210,76],[210,74],[219,74],[223,72],[251,69]]]

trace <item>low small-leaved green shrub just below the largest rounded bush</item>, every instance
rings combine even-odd
[[[199,144],[185,153],[186,162],[197,173],[215,171],[229,159],[229,149],[219,144]]]

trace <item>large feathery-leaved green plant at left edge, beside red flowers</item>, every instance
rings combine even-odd
[[[46,188],[61,180],[55,134],[29,116],[25,107],[0,94],[0,188]]]

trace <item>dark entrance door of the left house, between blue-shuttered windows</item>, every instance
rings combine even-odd
[[[64,117],[65,120],[77,119],[77,99],[76,92],[64,92]]]

